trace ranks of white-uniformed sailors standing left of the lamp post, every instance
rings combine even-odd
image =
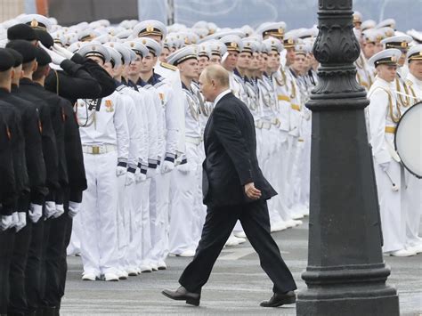
[[[292,199],[273,202],[273,231],[299,224],[293,217],[308,212],[309,180],[301,176],[306,170],[300,165],[309,163],[304,163],[304,138],[300,136],[310,137],[310,115],[303,116],[302,108],[315,83],[314,70],[308,73],[315,62],[309,62],[304,46],[296,47],[294,37],[287,40],[287,59],[296,67],[281,71],[283,45],[279,39],[242,40],[225,32],[219,40],[187,45],[168,55],[167,63],[160,63],[159,42],[166,34],[165,26],[149,20],[135,28],[138,39],[69,47],[108,69],[118,84],[116,93],[101,101],[77,101],[88,189],[69,252],[80,247],[83,280],[97,280],[101,275],[105,280],[122,280],[142,271],[166,269],[169,253],[194,255],[206,214],[201,194],[202,133],[212,110],[197,80],[209,62],[223,63],[231,73],[233,92],[253,111],[258,137],[267,139],[260,143],[266,174],[280,183],[280,191],[284,186],[279,177],[295,182],[286,189],[289,192],[283,192]],[[268,25],[264,36],[280,36],[274,28]],[[296,48],[300,49],[296,52]],[[182,99],[177,99],[177,79],[183,88]],[[295,117],[290,128],[292,111]],[[301,124],[303,119],[308,126]],[[284,129],[280,120],[285,121]],[[280,154],[296,167],[281,166]],[[236,234],[242,236],[241,227]],[[230,242],[244,240],[233,236]]]

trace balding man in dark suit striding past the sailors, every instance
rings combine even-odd
[[[195,257],[179,280],[181,287],[162,293],[198,306],[201,288],[239,220],[274,283],[274,295],[261,306],[295,303],[295,281],[270,234],[266,200],[277,192],[258,166],[254,118],[245,103],[229,90],[229,74],[223,67],[207,67],[199,77],[199,85],[207,101],[215,103],[204,132],[202,181],[207,218]]]

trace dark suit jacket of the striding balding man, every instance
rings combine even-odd
[[[215,104],[204,131],[204,146],[202,190],[208,207],[252,202],[244,190],[248,182],[255,182],[262,191],[261,199],[277,194],[258,166],[254,117],[232,93]]]

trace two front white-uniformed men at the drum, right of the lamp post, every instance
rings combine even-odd
[[[395,40],[389,45],[400,48],[407,44],[405,38]],[[402,115],[422,101],[422,45],[414,45],[403,54],[401,49],[386,48],[369,59],[369,64],[377,70],[377,77],[369,89],[367,109],[384,237],[383,252],[395,256],[422,252],[419,237],[422,181],[403,168],[394,144],[394,134]],[[400,75],[403,57],[409,65],[406,77]]]

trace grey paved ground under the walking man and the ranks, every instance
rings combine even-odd
[[[300,278],[307,261],[307,221],[295,229],[273,234],[281,255],[295,277]],[[69,257],[69,275],[62,315],[296,315],[295,305],[263,309],[259,302],[272,295],[272,284],[261,270],[250,244],[226,247],[213,274],[203,288],[201,306],[167,299],[163,288],[177,288],[177,280],[188,258],[170,257],[166,271],[145,273],[119,282],[80,280],[80,258]],[[402,315],[422,315],[422,255],[410,258],[385,257],[392,268],[388,280],[399,291]]]

